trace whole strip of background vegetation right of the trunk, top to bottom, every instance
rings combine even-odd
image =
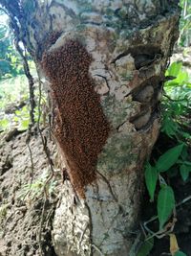
[[[169,255],[186,255],[180,249],[174,230],[178,208],[191,196],[179,201],[172,178],[181,178],[186,184],[191,173],[191,1],[181,0],[180,7],[180,38],[165,74],[159,142],[145,164],[149,207],[156,207],[156,215],[143,222],[145,241],[138,256],[149,255],[156,242],[154,238],[166,236],[169,237]]]

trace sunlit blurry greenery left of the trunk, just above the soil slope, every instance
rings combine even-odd
[[[34,71],[32,73],[35,75]],[[35,91],[35,97],[36,99],[39,97],[38,90]],[[19,75],[16,78],[0,81],[0,99],[0,131],[11,128],[28,129],[31,120],[27,78]],[[42,105],[46,105],[45,99],[43,94]],[[34,109],[34,119],[38,120],[38,106]]]

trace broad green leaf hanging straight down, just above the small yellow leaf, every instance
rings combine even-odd
[[[163,227],[163,224],[168,221],[172,211],[175,207],[175,196],[170,186],[164,186],[159,191],[158,197],[158,218],[159,229]]]

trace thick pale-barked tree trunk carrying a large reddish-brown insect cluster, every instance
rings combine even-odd
[[[178,1],[0,2],[50,84],[53,133],[70,176],[54,214],[56,254],[130,255]]]

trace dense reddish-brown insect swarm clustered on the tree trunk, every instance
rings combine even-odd
[[[96,161],[109,134],[109,124],[89,76],[92,58],[78,41],[46,52],[42,65],[51,81],[56,105],[54,135],[64,152],[70,179],[79,196],[96,179]]]

